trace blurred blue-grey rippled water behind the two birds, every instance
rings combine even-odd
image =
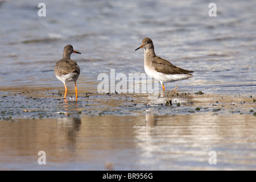
[[[194,77],[177,82],[189,92],[252,94],[255,82],[255,1],[7,1],[0,7],[0,69],[3,87],[61,85],[53,71],[63,48],[81,68],[78,84],[97,90],[99,73],[144,73],[144,37],[156,55]],[[90,82],[90,84],[88,84]],[[94,85],[93,85],[94,84]],[[159,85],[160,86],[160,85]],[[167,84],[171,89],[175,84]]]

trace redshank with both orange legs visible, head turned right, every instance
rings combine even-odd
[[[71,45],[65,46],[64,52],[63,52],[63,59],[57,61],[54,68],[54,73],[55,73],[55,76],[60,81],[62,81],[65,86],[64,98],[66,98],[67,91],[68,91],[66,82],[69,82],[69,81],[75,82],[75,91],[76,91],[76,100],[77,100],[76,80],[80,75],[80,68],[79,68],[79,65],[77,65],[76,61],[73,61],[70,58],[73,52],[80,53],[80,52],[74,51],[73,46]]]

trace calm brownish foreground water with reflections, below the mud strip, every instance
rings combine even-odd
[[[0,168],[254,170],[254,119],[146,114],[3,121]],[[46,165],[38,164],[39,151],[46,152]],[[210,151],[217,164],[209,164]]]

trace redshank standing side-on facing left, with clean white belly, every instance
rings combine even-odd
[[[142,45],[135,49],[144,48],[144,69],[148,76],[158,80],[162,84],[164,90],[164,82],[174,82],[185,80],[193,77],[193,71],[188,71],[175,65],[169,61],[155,55],[154,44],[150,38],[144,38]]]

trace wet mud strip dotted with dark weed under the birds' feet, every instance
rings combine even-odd
[[[90,88],[89,88],[90,89]],[[8,91],[7,91],[8,90]],[[156,115],[208,114],[254,114],[254,95],[224,95],[177,92],[170,100],[170,90],[159,94],[122,94],[86,92],[79,88],[79,98],[75,100],[75,90],[68,86],[68,95],[63,99],[64,89],[53,88],[0,88],[0,117],[2,120],[56,118],[65,115],[141,115],[152,110]],[[91,88],[90,90],[93,90]]]

